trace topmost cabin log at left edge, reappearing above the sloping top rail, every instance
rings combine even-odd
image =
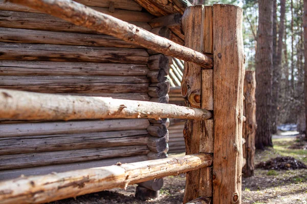
[[[78,1],[75,1],[78,2]],[[104,3],[105,1],[103,1]],[[99,1],[99,3],[102,3]],[[127,3],[125,3],[126,5]],[[84,3],[86,5],[86,3]],[[127,5],[129,6],[129,5]],[[116,9],[115,11],[111,12],[109,11],[109,7],[102,8],[102,7],[91,7],[92,9],[114,16],[116,18],[119,18],[121,20],[125,21],[136,21],[136,22],[149,22],[152,19],[155,18],[155,16],[147,13],[147,12],[139,12],[139,11],[130,11],[130,10],[123,10],[123,9]],[[16,4],[12,4],[9,2],[6,2],[4,0],[0,0],[0,10],[6,10],[6,11],[22,11],[22,12],[31,12],[31,13],[39,13],[39,11],[35,9],[31,9],[29,7],[20,6]]]

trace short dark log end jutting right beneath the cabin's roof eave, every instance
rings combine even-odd
[[[182,15],[180,13],[174,13],[159,18],[153,18],[149,24],[153,29],[159,27],[179,26],[181,16]]]

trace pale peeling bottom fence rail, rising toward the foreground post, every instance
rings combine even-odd
[[[178,175],[210,166],[212,156],[187,155],[108,167],[23,177],[0,183],[2,203],[43,203],[140,183],[168,175]],[[167,169],[167,171],[166,171]],[[140,173],[141,172],[141,173]],[[35,193],[34,193],[35,192]]]

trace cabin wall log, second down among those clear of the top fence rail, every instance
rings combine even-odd
[[[144,64],[0,61],[0,75],[146,76],[148,71]]]

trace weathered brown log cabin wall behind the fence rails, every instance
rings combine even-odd
[[[77,2],[152,29],[133,0]],[[0,36],[0,88],[168,103],[164,55],[4,0]],[[168,123],[0,119],[0,180],[165,158]]]

